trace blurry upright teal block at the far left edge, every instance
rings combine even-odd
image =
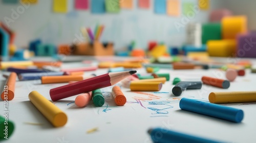
[[[0,61],[8,61],[9,58],[9,35],[8,33],[6,33],[5,30],[3,30],[2,28],[0,28],[0,47],[1,47],[1,51],[0,51],[0,56],[1,59]]]

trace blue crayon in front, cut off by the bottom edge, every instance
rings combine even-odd
[[[148,133],[151,136],[151,139],[153,142],[161,142],[161,143],[167,143],[167,142],[189,142],[189,143],[217,143],[220,141],[216,140],[210,140],[207,138],[201,138],[197,136],[192,136],[184,133],[175,132],[172,130],[166,130],[163,128],[155,128],[148,130]]]

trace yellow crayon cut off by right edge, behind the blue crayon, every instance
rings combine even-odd
[[[256,102],[256,91],[211,92],[210,103]]]

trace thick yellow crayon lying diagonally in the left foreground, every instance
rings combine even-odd
[[[37,91],[31,91],[29,93],[29,100],[34,106],[51,122],[54,127],[64,126],[68,117],[66,113],[61,111],[57,106],[43,97]]]

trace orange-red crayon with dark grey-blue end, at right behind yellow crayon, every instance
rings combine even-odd
[[[204,84],[220,87],[220,88],[228,88],[230,86],[230,82],[227,80],[211,78],[211,77],[202,77],[202,82]]]

